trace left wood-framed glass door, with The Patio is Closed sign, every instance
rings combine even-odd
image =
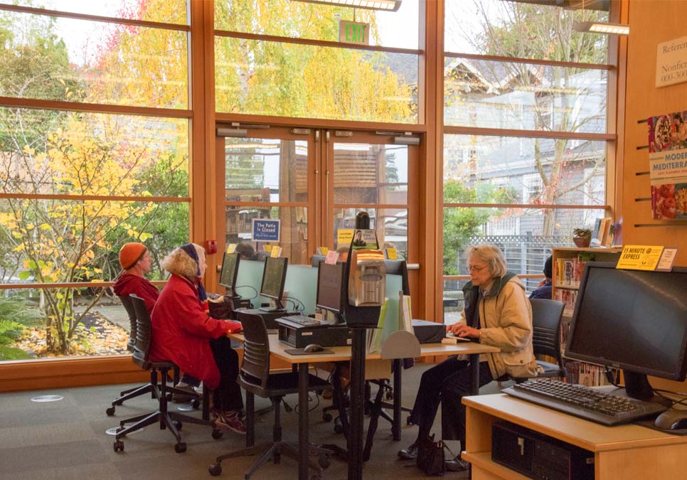
[[[309,263],[316,245],[314,138],[312,129],[218,128],[217,186],[224,207],[218,208],[218,228],[224,232],[219,247],[244,243],[265,255],[266,247],[278,244],[289,263]],[[279,241],[255,241],[254,219],[279,220]]]

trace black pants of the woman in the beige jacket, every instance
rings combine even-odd
[[[468,361],[450,357],[422,373],[411,414],[412,422],[420,427],[417,439],[430,434],[441,403],[442,439],[460,440],[461,448],[465,448],[465,407],[461,400],[471,394],[469,365]],[[489,364],[481,362],[479,386],[491,380]]]

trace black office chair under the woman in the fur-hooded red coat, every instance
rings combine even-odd
[[[176,444],[174,445],[174,450],[177,453],[186,452],[186,443],[181,442],[181,422],[196,423],[198,425],[211,425],[211,422],[206,418],[201,420],[196,417],[190,417],[188,415],[183,415],[178,412],[169,412],[167,410],[167,393],[168,390],[171,392],[183,390],[177,390],[174,387],[167,387],[167,373],[169,370],[173,369],[176,365],[170,361],[163,362],[151,362],[148,359],[150,352],[150,345],[152,340],[152,324],[150,321],[150,316],[148,314],[148,309],[146,308],[146,303],[143,299],[132,294],[129,295],[132,305],[134,306],[134,312],[136,314],[136,344],[134,345],[134,352],[132,353],[132,360],[137,366],[143,368],[144,370],[151,371],[151,384],[157,384],[157,378],[154,372],[160,372],[161,380],[159,385],[159,391],[155,394],[158,400],[158,410],[155,412],[145,413],[144,415],[137,415],[136,417],[129,418],[127,420],[122,420],[119,422],[119,428],[117,429],[117,434],[115,435],[115,452],[124,451],[123,437],[127,434],[135,432],[136,430],[141,430],[147,425],[152,425],[156,422],[160,422],[160,430],[169,428],[169,431],[176,437]],[[157,390],[157,387],[155,387]],[[203,402],[209,402],[208,392],[205,391],[203,395]],[[204,405],[205,406],[205,405]],[[203,414],[206,414],[207,410],[203,408]],[[124,427],[127,423],[133,423],[134,425],[129,425],[129,427]],[[222,432],[213,428],[213,438],[218,439],[222,437]]]

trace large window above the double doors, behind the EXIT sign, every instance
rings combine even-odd
[[[419,2],[396,12],[301,1],[215,2],[218,112],[417,123]],[[339,21],[370,24],[342,48]],[[257,36],[257,38],[255,38]]]

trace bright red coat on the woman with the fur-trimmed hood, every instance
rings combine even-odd
[[[173,361],[183,373],[203,380],[208,388],[220,383],[220,372],[209,340],[241,330],[238,321],[216,320],[201,306],[196,286],[173,274],[151,316],[151,361]]]

